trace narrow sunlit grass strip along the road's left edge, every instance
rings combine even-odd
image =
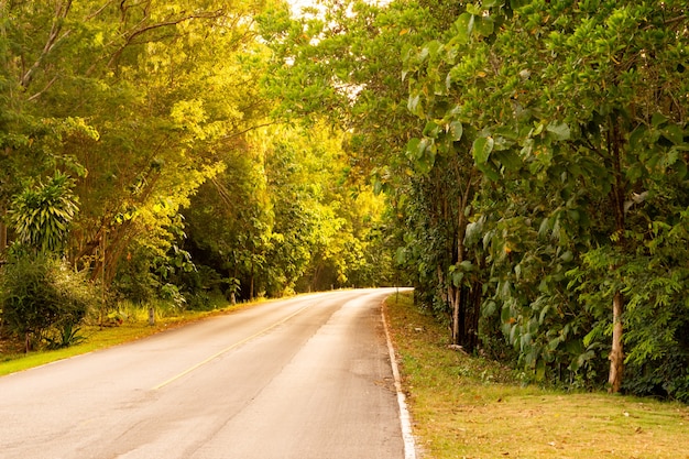
[[[210,312],[181,312],[161,304],[155,307],[155,325],[150,326],[147,306],[124,304],[121,307],[121,316],[124,318],[121,325],[108,327],[99,327],[97,325],[83,326],[78,335],[86,337],[86,340],[79,345],[53,351],[41,350],[28,354],[21,352],[0,352],[0,376],[134,341],[169,328],[178,327],[183,324],[200,320],[212,315],[226,314],[252,305],[251,303],[243,303],[236,306],[225,305]],[[91,321],[95,323],[96,320]]]

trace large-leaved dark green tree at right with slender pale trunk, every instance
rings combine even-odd
[[[502,304],[503,328],[524,362],[543,375],[544,363],[558,363],[553,351],[570,348],[576,373],[600,351],[603,330],[613,330],[609,381],[617,391],[623,321],[637,327],[626,339],[633,362],[654,347],[636,341],[650,335],[634,317],[648,318],[642,310],[661,307],[671,291],[665,281],[654,294],[636,288],[639,266],[683,276],[682,262],[656,251],[686,206],[681,7],[484,3],[468,6],[451,35],[415,54],[409,105],[424,107],[429,123],[475,132],[474,164],[490,186],[469,232],[480,229],[472,239],[488,249],[495,295],[486,310]],[[603,298],[611,308],[601,308]],[[624,310],[642,298],[650,304]],[[569,306],[576,300],[583,309]],[[681,316],[674,320],[681,329]],[[671,335],[666,345],[678,342]]]

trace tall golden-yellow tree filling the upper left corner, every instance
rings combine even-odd
[[[132,244],[154,255],[168,250],[168,228],[218,173],[218,151],[263,119],[255,84],[262,47],[252,29],[263,4],[2,8],[12,20],[0,47],[8,64],[0,197],[17,193],[23,174],[74,172],[81,212],[68,255],[109,284]],[[80,131],[70,128],[79,123]]]

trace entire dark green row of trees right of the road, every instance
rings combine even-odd
[[[284,110],[352,133],[453,343],[688,400],[683,2],[338,0],[264,26]]]

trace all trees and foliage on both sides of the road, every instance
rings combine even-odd
[[[105,314],[408,283],[529,381],[688,401],[688,13],[0,1],[3,324],[67,326],[17,276]]]

